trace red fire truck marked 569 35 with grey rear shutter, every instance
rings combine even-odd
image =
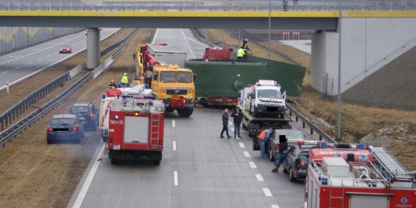
[[[146,156],[159,165],[163,151],[164,107],[160,100],[115,98],[110,107],[108,135],[112,164],[127,154]]]

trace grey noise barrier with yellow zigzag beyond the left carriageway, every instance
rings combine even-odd
[[[0,28],[0,56],[40,43],[77,33],[83,28],[28,28],[1,27]]]

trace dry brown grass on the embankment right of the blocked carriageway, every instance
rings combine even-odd
[[[221,42],[222,30],[208,30],[208,36],[211,41]],[[237,46],[238,40],[224,32],[225,45]],[[250,47],[259,57],[267,58],[267,42],[254,44],[251,42]],[[263,45],[263,47],[258,47]],[[295,60],[300,65],[306,67],[309,72],[310,55],[299,51],[293,47],[272,41],[272,49],[280,54],[284,54]],[[266,46],[266,47],[265,47]],[[286,61],[277,53],[272,53],[271,59]],[[337,122],[336,103],[322,98],[322,94],[310,86],[310,73],[306,73],[303,88],[298,98],[298,102],[293,106],[308,118],[322,118],[331,125]],[[416,111],[402,111],[394,109],[383,109],[375,107],[366,107],[349,103],[342,103],[341,126],[342,137],[345,142],[358,142],[359,139],[377,129],[391,126],[393,124],[410,124],[416,126]],[[334,135],[335,132],[328,133]],[[416,156],[406,157],[404,153],[416,152],[416,144],[396,140],[390,144],[389,149],[398,160],[409,170],[416,170]]]

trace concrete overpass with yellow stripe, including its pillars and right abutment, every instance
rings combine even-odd
[[[312,86],[337,86],[342,10],[341,92],[416,46],[416,1],[158,1],[0,3],[0,27],[85,27],[87,66],[99,64],[98,28],[313,30]],[[397,35],[400,34],[400,35]],[[394,37],[394,41],[392,39]],[[337,89],[335,88],[335,92]]]

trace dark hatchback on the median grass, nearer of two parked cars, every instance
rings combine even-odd
[[[48,121],[46,141],[51,144],[57,140],[81,142],[84,137],[84,125],[76,115],[55,115]]]

